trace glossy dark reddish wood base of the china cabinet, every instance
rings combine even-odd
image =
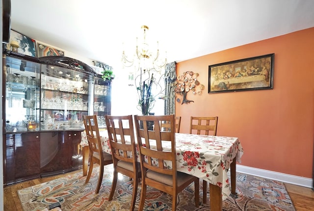
[[[80,132],[4,134],[4,186],[82,168]]]

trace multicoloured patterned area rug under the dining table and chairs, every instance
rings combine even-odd
[[[113,200],[108,201],[112,171],[112,164],[105,167],[99,194],[95,194],[99,172],[99,167],[95,167],[88,184],[85,184],[86,177],[78,172],[21,189],[18,195],[24,211],[42,211],[55,202],[61,204],[62,211],[128,211],[133,187],[128,177],[119,174]],[[140,189],[139,185],[135,210],[138,209]],[[237,173],[236,192],[235,196],[223,201],[223,211],[295,211],[286,187],[281,182]],[[201,202],[202,198],[200,186],[200,206],[196,208],[194,185],[189,185],[179,194],[177,211],[210,211],[209,204]],[[171,196],[148,187],[144,211],[170,210]]]

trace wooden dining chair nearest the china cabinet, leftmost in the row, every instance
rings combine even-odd
[[[83,122],[88,141],[90,160],[89,170],[85,183],[88,183],[90,176],[92,175],[94,162],[98,163],[100,165],[100,170],[95,193],[99,193],[100,186],[102,185],[103,181],[104,166],[111,164],[113,162],[112,156],[108,153],[103,152],[101,136],[99,134],[98,129],[97,116],[96,115],[83,116]]]

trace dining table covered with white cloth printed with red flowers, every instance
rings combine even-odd
[[[100,130],[103,151],[111,154],[108,133]],[[237,137],[176,133],[177,171],[209,183],[210,210],[222,211],[222,201],[235,192],[236,161],[241,162],[243,148]],[[88,146],[81,132],[83,176],[87,175]],[[138,149],[138,148],[137,148]],[[139,161],[139,153],[137,152]],[[230,180],[228,171],[230,170]]]

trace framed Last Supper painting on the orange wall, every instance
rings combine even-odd
[[[273,89],[274,55],[209,65],[208,93]]]

